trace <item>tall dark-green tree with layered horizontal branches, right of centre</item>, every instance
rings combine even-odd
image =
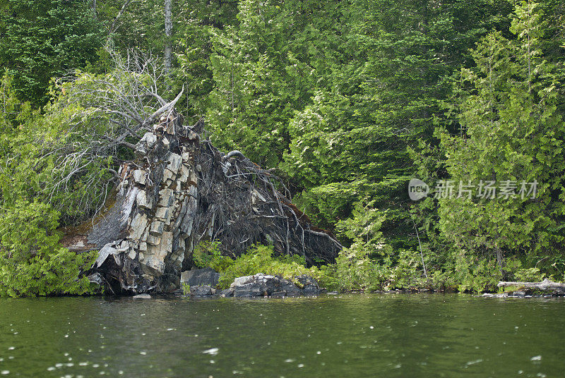
[[[344,59],[333,83],[290,122],[283,169],[306,189],[300,202],[332,226],[366,197],[386,214],[383,235],[415,248],[406,184],[411,150],[432,142],[447,78],[471,64],[468,49],[487,30],[507,25],[508,2],[352,2]],[[506,20],[506,21],[505,21]],[[408,237],[407,237],[408,236]]]

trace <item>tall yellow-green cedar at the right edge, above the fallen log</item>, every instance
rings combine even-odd
[[[496,32],[482,40],[472,52],[476,68],[461,71],[460,133],[441,135],[455,183],[513,186],[515,195],[439,200],[442,235],[455,245],[454,258],[464,257],[468,269],[496,261],[497,278],[511,272],[505,264],[515,258],[551,267],[563,253],[563,76],[542,54],[544,30],[540,6],[523,3],[511,25],[515,40]],[[534,182],[535,195],[528,193]]]

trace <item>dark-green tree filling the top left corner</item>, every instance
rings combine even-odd
[[[0,66],[13,75],[20,98],[47,102],[53,77],[97,60],[100,24],[90,1],[4,0],[0,4]]]

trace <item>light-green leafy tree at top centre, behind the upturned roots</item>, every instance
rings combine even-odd
[[[215,88],[208,121],[220,147],[278,165],[290,142],[290,119],[324,80],[332,54],[340,54],[345,27],[335,19],[345,3],[239,2],[239,24],[216,31],[210,57]]]

